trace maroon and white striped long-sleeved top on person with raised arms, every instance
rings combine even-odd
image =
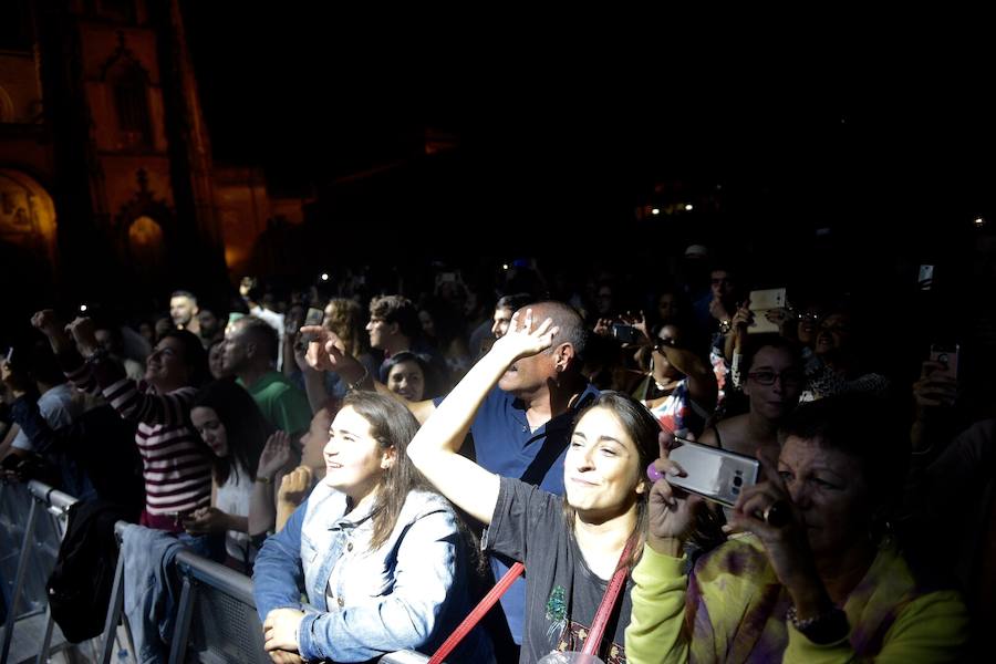
[[[66,377],[84,392],[103,393],[122,417],[137,421],[135,443],[142,455],[146,512],[166,516],[210,505],[210,450],[189,423],[195,387],[157,394],[105,359],[84,363],[66,372]]]

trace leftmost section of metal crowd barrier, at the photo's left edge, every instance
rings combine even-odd
[[[0,662],[10,657],[15,629],[19,625],[22,631],[37,629],[35,621],[42,616],[44,627],[37,662],[41,664],[49,657],[54,621],[45,583],[65,533],[66,510],[75,501],[72,496],[37,480],[27,486],[0,483],[0,587],[7,608]],[[24,511],[28,512],[27,521]]]

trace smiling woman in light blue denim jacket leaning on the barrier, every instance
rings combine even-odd
[[[432,653],[469,612],[470,552],[457,517],[405,454],[417,428],[388,397],[345,397],[325,479],[256,560],[256,605],[274,661]],[[478,627],[449,661],[492,658]]]

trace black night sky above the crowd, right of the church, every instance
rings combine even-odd
[[[262,164],[278,189],[409,156],[432,126],[459,137],[484,205],[508,211],[556,191],[567,208],[632,215],[664,178],[723,183],[757,222],[902,228],[993,210],[990,59],[967,35],[685,46],[666,31],[184,8],[216,159]]]

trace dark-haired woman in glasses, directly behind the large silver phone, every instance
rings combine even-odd
[[[750,457],[778,455],[778,426],[799,403],[806,384],[798,346],[777,334],[747,338],[739,362],[747,413],[706,428],[701,442]]]

